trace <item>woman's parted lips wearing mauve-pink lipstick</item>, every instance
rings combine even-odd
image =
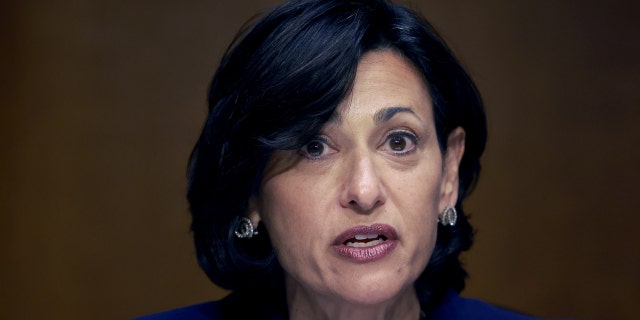
[[[365,263],[383,258],[398,244],[396,230],[386,224],[356,226],[341,233],[333,249],[354,262]]]

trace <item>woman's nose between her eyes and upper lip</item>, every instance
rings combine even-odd
[[[360,213],[369,213],[384,204],[386,194],[372,159],[355,155],[346,166],[340,204]]]

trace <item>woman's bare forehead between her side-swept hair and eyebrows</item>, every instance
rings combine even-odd
[[[399,54],[391,50],[369,52],[360,60],[351,93],[338,106],[334,120],[341,122],[346,115],[371,115],[390,107],[410,108],[430,117],[431,96],[426,82]]]

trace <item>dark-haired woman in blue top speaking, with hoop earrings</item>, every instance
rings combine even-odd
[[[198,261],[233,293],[151,318],[525,319],[458,296],[485,142],[478,92],[423,18],[276,7],[222,59],[190,159]]]

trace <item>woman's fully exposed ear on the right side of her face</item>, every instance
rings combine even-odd
[[[464,154],[465,132],[461,127],[455,128],[447,138],[447,150],[443,159],[443,177],[440,188],[440,212],[446,206],[455,206],[458,201],[458,172]]]

